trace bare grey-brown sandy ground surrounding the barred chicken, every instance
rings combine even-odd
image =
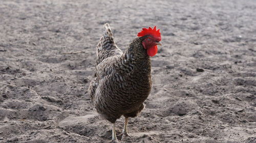
[[[0,142],[110,140],[87,93],[105,22],[122,50],[142,27],[162,33],[126,142],[256,142],[255,13],[250,0],[0,1]]]

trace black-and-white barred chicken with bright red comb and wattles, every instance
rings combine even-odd
[[[116,45],[108,23],[96,47],[95,78],[89,86],[91,100],[99,115],[112,123],[112,140],[116,137],[115,122],[125,117],[121,140],[127,133],[128,118],[134,118],[145,108],[143,103],[151,92],[151,58],[161,44],[160,30],[142,28],[127,49]]]

